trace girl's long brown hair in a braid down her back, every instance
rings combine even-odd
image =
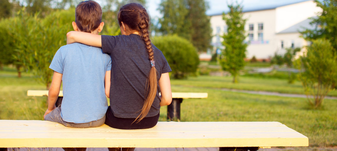
[[[150,61],[154,61],[154,54],[149,37],[150,17],[146,9],[139,3],[129,3],[122,6],[118,12],[119,26],[126,24],[131,30],[140,32],[140,35],[145,43],[146,50],[149,53],[149,66]],[[148,94],[147,94],[148,93]],[[149,78],[146,83],[145,102],[141,113],[135,119],[138,123],[148,114],[153,100],[157,93],[157,71],[154,66],[151,66]],[[146,95],[147,94],[147,95]]]

